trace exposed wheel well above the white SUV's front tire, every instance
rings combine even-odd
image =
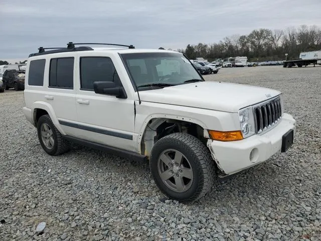
[[[195,123],[178,119],[153,118],[148,122],[144,130],[140,142],[141,154],[149,157],[153,145],[172,133],[191,134],[205,145],[207,143],[207,139],[204,137],[204,129]]]

